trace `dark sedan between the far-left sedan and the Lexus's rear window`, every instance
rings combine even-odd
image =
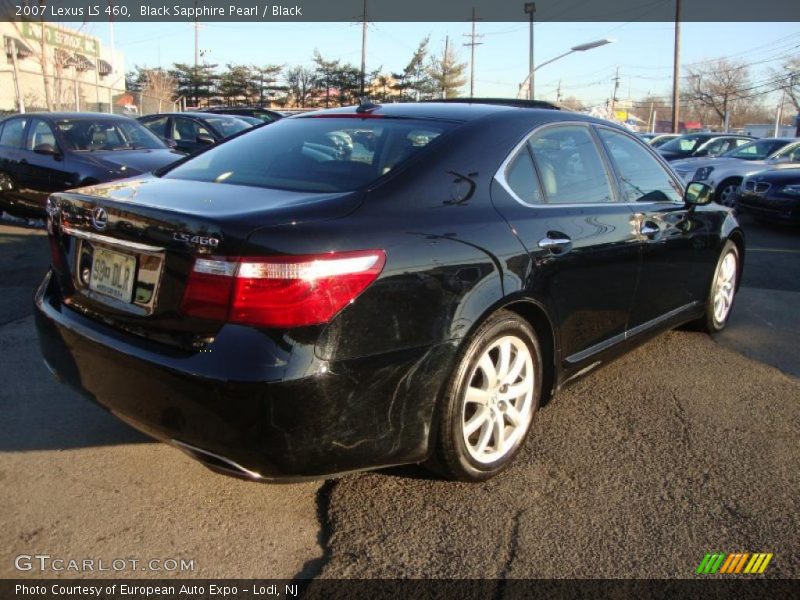
[[[193,154],[253,126],[230,115],[203,112],[158,113],[139,117],[139,122],[183,154]]]

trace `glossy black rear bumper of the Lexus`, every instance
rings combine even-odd
[[[419,462],[428,454],[453,344],[326,362],[314,357],[313,345],[309,352],[295,342],[287,352],[293,340],[284,336],[284,352],[270,361],[269,336],[234,330],[227,335],[238,335],[238,345],[215,342],[209,361],[119,333],[59,298],[48,275],[34,312],[49,368],[122,420],[211,468],[253,479],[302,479]],[[267,363],[257,378],[245,379],[241,364],[225,375],[220,365],[241,362],[225,356],[237,346]]]

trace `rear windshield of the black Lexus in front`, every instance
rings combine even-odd
[[[307,192],[351,191],[385,175],[452,127],[408,119],[281,119],[211,148],[164,177]]]

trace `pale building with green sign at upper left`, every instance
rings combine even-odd
[[[127,112],[120,53],[80,30],[39,21],[0,22],[0,113]]]

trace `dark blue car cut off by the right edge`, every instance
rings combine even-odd
[[[800,224],[800,169],[760,171],[739,188],[739,212],[762,221]]]

